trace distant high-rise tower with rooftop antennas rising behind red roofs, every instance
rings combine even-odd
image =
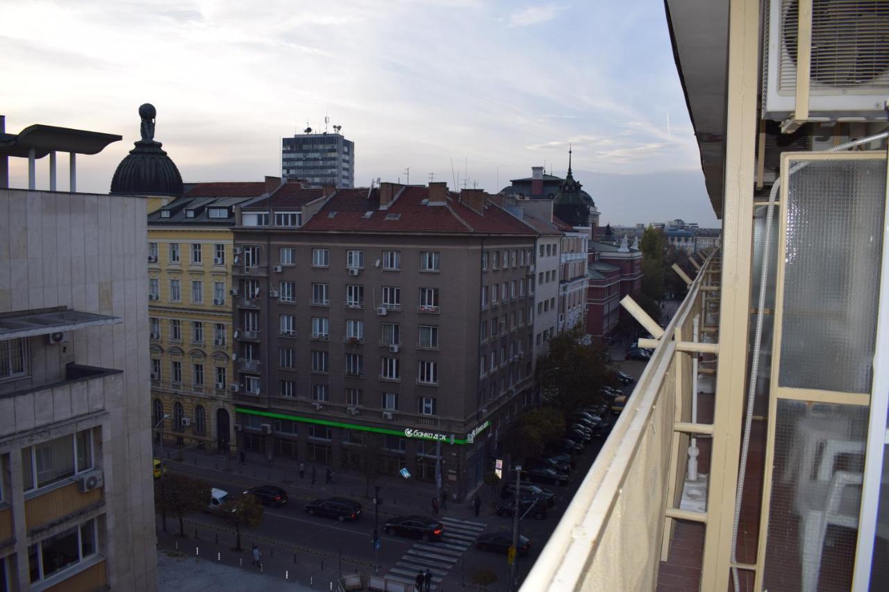
[[[335,126],[336,127],[336,126]],[[300,133],[281,140],[281,176],[312,187],[355,186],[355,142],[339,132]]]

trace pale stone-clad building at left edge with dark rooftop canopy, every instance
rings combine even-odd
[[[146,201],[76,193],[118,135],[31,125],[0,142],[0,588],[155,590]],[[70,153],[71,191],[56,154]],[[51,190],[6,158],[51,155]]]

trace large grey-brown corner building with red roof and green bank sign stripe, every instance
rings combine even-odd
[[[236,226],[239,442],[269,459],[481,482],[530,403],[537,232],[480,190],[306,189]],[[284,210],[281,210],[284,212]],[[378,438],[374,440],[373,438]]]

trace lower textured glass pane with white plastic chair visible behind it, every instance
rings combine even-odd
[[[779,399],[764,588],[848,590],[868,407]]]

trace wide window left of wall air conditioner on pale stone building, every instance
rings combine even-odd
[[[21,449],[21,473],[26,492],[67,479],[90,468],[92,431],[89,429]]]

